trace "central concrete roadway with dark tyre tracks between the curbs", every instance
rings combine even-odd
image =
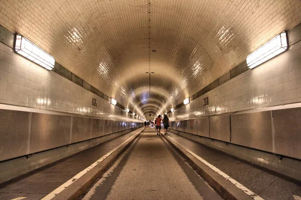
[[[148,127],[83,199],[222,198]]]

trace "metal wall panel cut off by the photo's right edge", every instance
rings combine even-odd
[[[301,159],[301,108],[274,110],[275,152]]]

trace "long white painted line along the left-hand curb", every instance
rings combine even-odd
[[[87,168],[85,168],[84,170],[82,170],[81,172],[79,172],[78,174],[76,174],[75,176],[73,176],[72,178],[70,178],[67,182],[61,184],[55,190],[53,190],[52,192],[50,192],[49,194],[47,194],[46,196],[44,196],[42,198],[42,200],[50,200],[50,199],[54,198],[56,195],[58,195],[60,192],[62,192],[64,189],[66,189],[69,185],[71,185],[73,182],[75,182],[78,178],[80,178],[85,173],[87,173],[88,171],[90,171],[97,164],[99,164],[102,160],[104,160],[106,157],[108,157],[110,154],[112,154],[115,150],[117,150],[118,148],[120,148],[128,140],[130,140],[132,137],[136,136],[137,134],[139,134],[143,130],[144,129],[139,130],[136,134],[132,135],[131,137],[129,137],[128,139],[126,139],[124,142],[122,142],[119,146],[115,147],[114,149],[112,149],[111,151],[109,151],[108,153],[106,153],[105,155],[103,155],[101,158],[99,158],[98,160],[96,160],[93,164],[91,164],[90,166],[88,166]]]

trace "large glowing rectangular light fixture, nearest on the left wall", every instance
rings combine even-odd
[[[54,67],[54,57],[52,57],[47,52],[33,44],[33,42],[26,39],[21,34],[16,34],[14,50],[16,53],[43,66],[48,70],[52,70]]]

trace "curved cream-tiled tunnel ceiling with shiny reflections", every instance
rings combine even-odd
[[[169,110],[301,22],[300,0],[0,0],[0,7],[2,25],[139,115]]]

